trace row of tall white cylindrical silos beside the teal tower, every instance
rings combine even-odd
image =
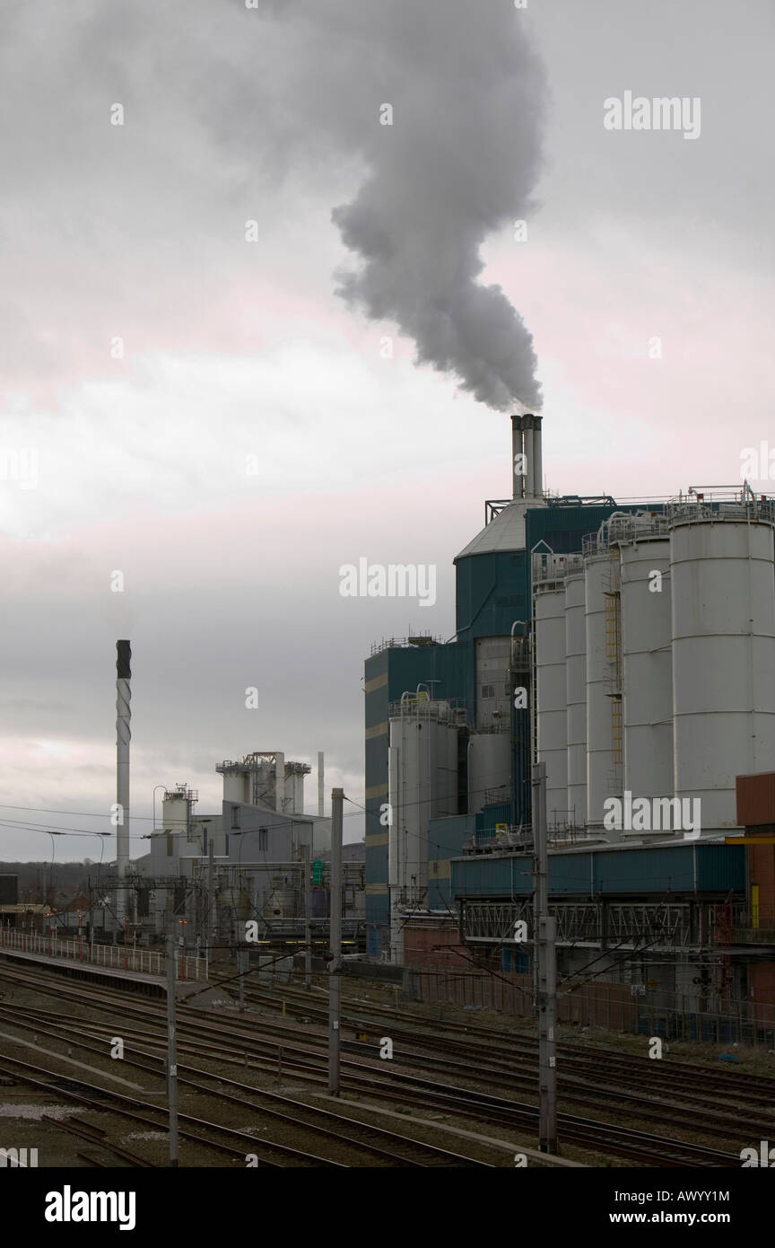
[[[664,835],[655,815],[672,826],[680,816],[692,826],[674,830],[693,836],[739,826],[735,778],[775,759],[774,523],[773,502],[745,487],[693,492],[662,513],[614,513],[576,559],[533,557],[536,756],[551,829],[552,812],[584,807],[583,753],[586,817],[573,826],[587,837]],[[563,716],[582,658],[582,583],[583,700],[568,699]],[[612,826],[607,802],[627,815],[627,794],[640,807]]]

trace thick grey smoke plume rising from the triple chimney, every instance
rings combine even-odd
[[[395,321],[417,362],[480,402],[538,407],[532,336],[501,287],[477,281],[482,242],[527,217],[540,171],[546,84],[525,12],[511,0],[275,0],[272,12],[308,24],[314,122],[368,167],[333,212],[363,261],[339,293]]]

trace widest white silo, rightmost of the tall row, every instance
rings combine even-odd
[[[735,827],[735,776],[775,758],[773,523],[754,502],[673,515],[675,796],[704,830]]]

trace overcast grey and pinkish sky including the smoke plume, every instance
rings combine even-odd
[[[541,387],[554,490],[775,449],[773,14],[6,0],[0,857],[51,854],[14,824],[110,826],[117,638],[133,854],[155,785],[212,812],[252,750],[325,750],[363,801],[363,658],[451,635],[451,560],[510,493],[503,387]],[[698,137],[607,130],[627,91],[699,99]],[[343,598],[360,558],[436,565],[435,605]]]

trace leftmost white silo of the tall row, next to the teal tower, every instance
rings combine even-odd
[[[536,755],[546,763],[547,824],[568,820],[566,590],[562,580],[536,585]]]

